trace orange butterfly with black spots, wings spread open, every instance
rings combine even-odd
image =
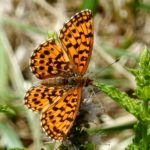
[[[41,84],[26,92],[24,103],[40,112],[41,126],[54,140],[67,136],[78,113],[82,88],[92,82],[83,77],[92,49],[92,13],[86,9],[63,25],[58,40],[50,38],[31,56],[31,71]]]

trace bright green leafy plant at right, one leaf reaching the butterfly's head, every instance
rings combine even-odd
[[[137,69],[130,69],[136,80],[134,97],[129,97],[113,86],[94,82],[101,91],[115,100],[121,107],[137,118],[134,125],[135,137],[133,143],[126,150],[148,150],[150,149],[150,51],[142,50],[140,62]],[[101,129],[99,130],[101,131]],[[90,130],[90,132],[94,132]],[[98,130],[96,131],[98,133]]]

